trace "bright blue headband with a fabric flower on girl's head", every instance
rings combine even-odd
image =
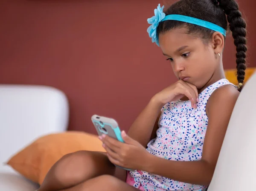
[[[166,14],[163,12],[164,6],[160,7],[158,4],[157,9],[154,9],[155,16],[148,18],[148,24],[151,26],[148,27],[147,32],[150,38],[152,38],[152,43],[156,43],[159,46],[158,35],[157,35],[157,26],[160,22],[164,20],[178,20],[186,23],[195,24],[198,26],[203,26],[205,28],[211,29],[213,31],[220,32],[222,35],[226,36],[226,30],[221,26],[215,25],[205,20],[197,19],[194,17],[184,16],[180,14]]]

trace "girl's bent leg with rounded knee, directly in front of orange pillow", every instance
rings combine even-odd
[[[122,181],[126,179],[126,171],[116,168],[106,153],[78,151],[63,156],[47,173],[38,191],[58,191],[80,184],[88,179],[109,174]]]

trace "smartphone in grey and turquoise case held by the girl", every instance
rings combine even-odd
[[[112,137],[113,139],[116,139],[120,142],[124,142],[121,136],[121,130],[119,129],[119,126],[116,120],[108,117],[98,116],[98,115],[93,115],[91,117],[91,120],[99,136],[101,136],[102,134],[106,134]],[[117,166],[117,167],[122,168],[120,166]],[[134,169],[127,169],[127,168],[123,168],[123,169],[127,171],[135,171]]]

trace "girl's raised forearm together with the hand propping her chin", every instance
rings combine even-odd
[[[128,136],[139,142],[143,147],[146,147],[149,140],[156,135],[160,109],[166,103],[176,101],[183,96],[188,97],[192,106],[196,107],[196,100],[198,99],[197,88],[193,84],[182,80],[157,93],[131,125]]]

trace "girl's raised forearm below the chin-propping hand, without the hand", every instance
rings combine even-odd
[[[153,97],[145,109],[140,113],[134,123],[131,125],[128,136],[146,147],[150,139],[156,137],[158,129],[158,120],[160,118],[160,110],[163,105]]]

